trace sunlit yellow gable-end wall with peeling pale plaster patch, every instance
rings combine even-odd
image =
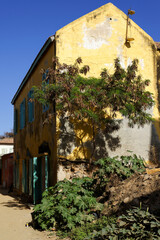
[[[127,47],[125,45],[127,16],[113,4],[108,3],[58,30],[55,35],[56,55],[61,63],[68,64],[74,63],[75,59],[81,57],[83,64],[90,66],[88,77],[99,76],[101,70],[105,67],[112,73],[114,71],[114,59],[117,57],[124,68],[133,59],[137,58],[139,60],[140,74],[144,79],[151,80],[148,90],[154,93],[156,100],[156,105],[151,112],[153,112],[156,119],[155,127],[157,134],[160,136],[155,43],[136,23],[132,20],[129,20],[129,22],[128,37],[135,40],[131,42],[130,47]],[[138,141],[140,140],[138,135],[136,140],[136,134],[139,131],[137,128],[135,132],[129,129],[126,131],[126,124],[124,124],[123,128],[125,131],[120,132],[120,134],[126,140],[122,141],[123,150],[121,153],[125,154],[126,150],[136,150],[136,145],[139,145]],[[141,132],[143,134],[143,137],[141,136],[142,141],[145,137],[147,138],[147,141],[144,140],[143,143],[141,141],[141,146],[139,146],[139,148],[143,148],[143,145],[147,145],[146,149],[142,149],[142,152],[145,152],[144,157],[147,157],[147,151],[150,148],[151,131],[148,128],[147,131],[144,129],[143,133]],[[144,132],[147,132],[147,135]],[[128,133],[132,135],[130,139],[127,139]],[[133,145],[133,141],[135,141],[135,148],[130,146]],[[73,146],[72,154],[69,157],[73,159],[78,151],[79,148]],[[141,152],[140,149],[139,152]]]

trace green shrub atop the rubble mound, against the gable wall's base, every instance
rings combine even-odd
[[[117,175],[120,180],[125,180],[134,173],[145,170],[143,159],[135,154],[133,156],[102,158],[96,161],[95,165],[98,167],[97,171],[93,173],[97,195],[104,192],[111,175]]]

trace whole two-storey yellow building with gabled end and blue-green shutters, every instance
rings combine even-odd
[[[90,66],[88,77],[99,76],[104,67],[113,72],[114,59],[117,57],[124,68],[133,59],[139,59],[141,75],[144,79],[151,80],[149,90],[153,92],[156,100],[156,105],[151,111],[155,122],[138,129],[136,126],[128,128],[127,120],[124,119],[120,130],[113,133],[112,139],[116,142],[116,137],[120,136],[121,146],[109,149],[114,141],[109,142],[108,135],[98,136],[95,158],[107,154],[124,155],[130,150],[147,160],[152,146],[159,149],[158,51],[155,42],[146,32],[132,20],[129,20],[129,23],[128,36],[135,40],[126,44],[127,16],[108,3],[58,30],[45,42],[13,97],[16,171],[14,187],[20,193],[33,196],[35,203],[40,200],[46,187],[57,182],[57,176],[60,179],[57,170],[58,156],[69,160],[84,158],[76,138],[77,135],[81,135],[79,128],[75,130],[72,124],[60,121],[60,128],[66,131],[65,137],[56,135],[55,120],[44,124],[52,108],[31,101],[32,87],[40,86],[42,82],[40,70],[51,66],[53,57],[58,57],[61,63],[67,64],[74,63],[75,59],[81,57],[83,63]],[[69,137],[71,134],[68,133],[75,137]],[[89,133],[87,134],[88,137],[84,136],[81,140],[89,155],[91,142]],[[60,172],[64,174],[62,168]]]

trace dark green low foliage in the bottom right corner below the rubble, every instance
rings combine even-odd
[[[96,228],[95,228],[96,229]],[[118,217],[116,222],[94,230],[85,240],[149,240],[160,239],[160,221],[148,211],[134,208]],[[73,238],[74,239],[74,238]]]

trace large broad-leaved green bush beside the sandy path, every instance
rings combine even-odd
[[[42,229],[55,227],[63,232],[93,221],[94,212],[102,209],[91,191],[92,179],[63,180],[43,193],[34,208],[35,219]]]

